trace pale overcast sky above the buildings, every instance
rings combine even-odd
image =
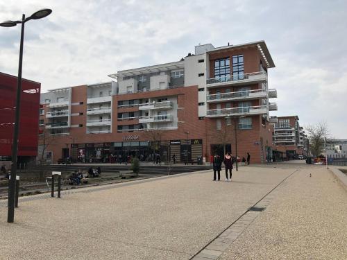
[[[297,114],[303,126],[325,121],[332,137],[347,139],[345,0],[10,0],[0,2],[0,21],[41,8],[53,12],[26,24],[23,77],[43,92],[177,61],[199,43],[265,40],[276,64],[271,115]],[[1,72],[17,75],[19,34],[19,26],[0,27]]]

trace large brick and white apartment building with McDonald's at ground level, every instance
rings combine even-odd
[[[267,84],[272,67],[264,41],[205,44],[178,62],[109,75],[117,81],[51,89],[41,95],[40,153],[52,162],[150,160],[153,151],[162,161],[208,162],[224,149],[235,155],[236,126],[237,155],[265,162],[277,120],[269,116],[277,110],[269,102],[277,97]]]

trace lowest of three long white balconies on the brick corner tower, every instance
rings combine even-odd
[[[208,117],[223,116],[247,116],[252,114],[267,114],[266,105],[256,105],[253,107],[232,107],[219,110],[208,110]]]

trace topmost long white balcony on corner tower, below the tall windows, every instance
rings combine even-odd
[[[236,85],[248,85],[253,83],[266,83],[267,74],[265,71],[230,75],[218,78],[208,78],[206,80],[206,87],[223,87],[223,86],[236,86]]]

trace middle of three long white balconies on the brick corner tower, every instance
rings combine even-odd
[[[207,96],[208,103],[217,103],[221,101],[242,101],[258,98],[266,98],[266,89],[253,89],[241,92],[228,92],[223,94],[212,94]]]

